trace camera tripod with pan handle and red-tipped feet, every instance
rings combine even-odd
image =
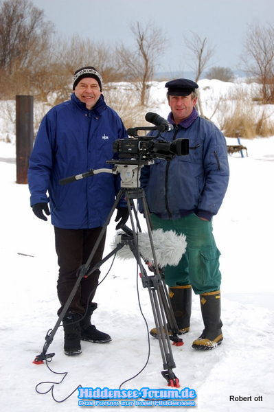
[[[141,282],[144,288],[148,288],[148,293],[150,296],[150,303],[152,306],[152,312],[153,316],[155,319],[155,325],[157,329],[157,336],[158,336],[158,341],[159,341],[159,347],[161,351],[161,356],[163,359],[163,370],[161,372],[163,378],[167,380],[168,386],[170,387],[179,387],[179,379],[176,378],[174,371],[172,370],[174,367],[176,367],[174,363],[174,358],[172,356],[172,347],[170,341],[173,341],[173,345],[183,345],[182,339],[180,339],[177,334],[179,334],[179,329],[176,324],[176,320],[174,317],[174,313],[170,304],[170,297],[168,295],[168,290],[167,286],[165,285],[164,277],[163,277],[163,269],[159,268],[157,264],[157,258],[155,255],[155,246],[153,244],[152,240],[152,225],[151,225],[151,220],[150,220],[150,214],[148,211],[148,205],[146,203],[146,197],[144,190],[140,187],[139,185],[139,173],[140,173],[140,168],[143,167],[145,164],[151,164],[151,161],[135,161],[135,160],[110,160],[106,161],[106,163],[112,163],[114,164],[113,169],[109,168],[103,168],[103,169],[98,169],[98,170],[89,170],[89,172],[85,172],[83,174],[79,174],[76,176],[70,176],[68,178],[62,179],[60,181],[61,185],[65,185],[67,183],[71,183],[73,181],[77,181],[79,179],[83,179],[88,176],[93,176],[98,173],[106,172],[106,173],[113,173],[113,174],[120,174],[121,175],[121,190],[119,190],[119,193],[117,194],[117,198],[115,200],[115,203],[113,204],[113,207],[111,208],[111,211],[109,213],[109,216],[106,219],[106,222],[104,224],[104,227],[102,228],[102,231],[100,233],[100,236],[98,237],[97,242],[95,243],[95,246],[93,247],[93,250],[91,251],[91,254],[89,255],[89,258],[87,260],[87,263],[80,266],[78,270],[78,279],[76,281],[76,284],[74,285],[73,289],[71,290],[71,294],[69,295],[69,298],[67,299],[67,302],[62,309],[62,312],[60,313],[60,316],[58,317],[58,321],[56,322],[56,325],[52,329],[51,332],[48,332],[47,335],[45,336],[45,345],[43,347],[43,352],[41,352],[40,355],[36,356],[34,359],[34,363],[40,364],[43,363],[43,360],[52,358],[54,356],[54,353],[52,354],[47,354],[47,350],[49,348],[49,345],[52,343],[54,339],[54,335],[56,334],[58,327],[60,326],[60,323],[62,322],[63,317],[65,316],[67,309],[69,308],[69,305],[71,304],[71,301],[76,294],[76,290],[78,289],[78,286],[81,282],[81,279],[83,277],[88,277],[93,273],[96,269],[100,268],[100,266],[106,262],[106,260],[109,260],[111,256],[115,255],[119,249],[122,249],[122,247],[128,245],[130,248],[130,251],[132,251],[135,259],[137,260],[137,264],[140,268],[140,276],[141,276]],[[141,164],[140,164],[141,163]],[[129,229],[126,227],[126,225],[122,225],[119,227],[119,229],[122,229],[125,233],[122,234],[119,243],[117,243],[117,246],[111,253],[106,255],[105,258],[103,258],[98,264],[96,264],[93,268],[90,268],[91,261],[93,260],[93,256],[95,255],[95,251],[98,249],[98,246],[100,244],[100,241],[102,240],[102,237],[104,236],[104,233],[106,231],[106,227],[109,225],[109,222],[111,220],[111,217],[113,216],[113,213],[115,211],[115,208],[117,207],[119,201],[123,198],[123,196],[126,199],[127,202],[127,207],[128,207],[128,212],[129,212],[129,218],[131,222],[131,226],[133,229]],[[150,247],[152,249],[152,256],[153,256],[153,262],[147,262],[141,255],[139,251],[139,244],[138,244],[138,232],[141,232],[141,227],[139,224],[139,219],[137,217],[137,209],[135,207],[134,200],[139,200],[142,202],[142,205],[144,207],[144,218],[146,220],[146,226],[148,229],[148,236],[150,240]],[[135,228],[135,223],[136,223],[136,228]],[[119,226],[119,225],[118,225]],[[148,275],[146,272],[146,269],[144,268],[144,265],[142,264],[142,259],[146,264],[148,264],[149,270],[154,273],[153,275]]]

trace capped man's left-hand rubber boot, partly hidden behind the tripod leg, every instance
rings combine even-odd
[[[190,315],[192,306],[192,287],[174,286],[169,288],[170,302],[179,328],[179,334],[185,334],[190,330]],[[150,334],[157,338],[157,329],[150,330]]]

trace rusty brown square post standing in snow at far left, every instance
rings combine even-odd
[[[16,183],[27,184],[33,139],[33,96],[16,95]]]

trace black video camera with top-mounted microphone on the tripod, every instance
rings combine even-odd
[[[189,153],[188,139],[175,139],[166,141],[158,139],[161,133],[173,129],[163,117],[156,113],[147,113],[146,120],[155,127],[135,127],[127,130],[128,135],[133,136],[128,139],[117,139],[113,142],[113,152],[118,154],[119,159],[137,159],[139,161],[149,161],[152,159],[172,160],[177,156],[186,156]],[[157,136],[138,136],[138,130],[158,130]]]

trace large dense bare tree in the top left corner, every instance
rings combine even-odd
[[[43,10],[27,0],[0,3],[1,91],[25,92],[32,83],[34,67],[45,58],[54,25]],[[18,89],[19,87],[19,89]]]

